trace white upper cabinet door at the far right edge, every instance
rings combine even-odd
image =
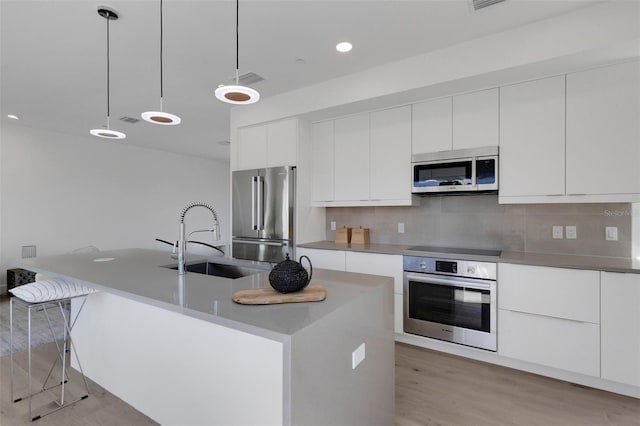
[[[640,62],[567,74],[567,194],[640,193]]]

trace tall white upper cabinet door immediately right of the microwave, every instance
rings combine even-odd
[[[500,196],[563,195],[564,76],[500,88]]]

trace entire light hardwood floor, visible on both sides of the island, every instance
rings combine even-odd
[[[54,350],[38,349],[36,374]],[[26,401],[10,401],[9,379],[9,357],[0,358],[2,426],[156,424],[92,382],[88,399],[30,423]],[[397,343],[396,425],[640,426],[640,400]]]

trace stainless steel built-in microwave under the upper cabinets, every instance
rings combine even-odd
[[[411,168],[414,194],[498,190],[497,146],[416,154]]]

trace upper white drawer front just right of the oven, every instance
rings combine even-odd
[[[600,272],[498,265],[498,307],[600,323]]]

